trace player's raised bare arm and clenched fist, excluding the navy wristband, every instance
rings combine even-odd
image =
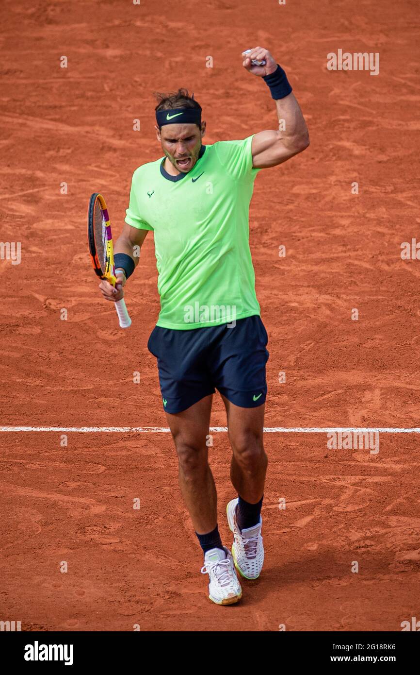
[[[251,59],[258,61],[264,59],[266,65],[251,65]],[[272,74],[277,64],[267,49],[256,47],[247,54],[243,67],[253,75],[262,77]],[[278,131],[262,131],[252,139],[252,163],[256,169],[266,169],[282,164],[301,153],[309,145],[309,132],[293,93],[284,99],[276,100],[275,103],[279,121]]]

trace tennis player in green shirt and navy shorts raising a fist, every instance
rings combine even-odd
[[[260,169],[275,167],[309,145],[301,109],[270,52],[256,47],[242,59],[243,68],[268,85],[277,119],[284,121],[281,130],[204,145],[206,122],[193,96],[184,89],[160,94],[156,137],[164,157],[134,171],[126,224],[115,244],[119,283],[115,289],[107,281],[100,284],[107,300],[123,297],[139,261],[133,246],[142,246],[152,230],[161,309],[148,349],[158,363],[181,493],[204,551],[202,572],[210,578],[210,599],[219,605],[241,599],[235,567],[241,576],[256,579],[264,562],[268,335],[254,288],[249,202]],[[233,110],[243,119],[240,105]],[[215,389],[226,408],[233,450],[231,481],[237,497],[227,505],[232,553],[218,532],[216,487],[208,465]]]

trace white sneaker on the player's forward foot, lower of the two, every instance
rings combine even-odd
[[[204,556],[202,574],[208,574],[210,584],[208,592],[210,600],[216,605],[233,605],[242,597],[241,584],[235,572],[231,551],[224,548],[210,549]]]

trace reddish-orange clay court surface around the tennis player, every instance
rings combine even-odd
[[[0,619],[22,630],[399,631],[420,618],[420,430],[409,431],[420,261],[400,256],[420,223],[417,3],[7,0],[3,15],[0,239],[21,242],[22,259],[0,260]],[[311,145],[261,171],[251,202],[270,352],[266,562],[242,580],[241,603],[218,607],[171,435],[146,429],[167,426],[147,350],[159,309],[153,236],[121,331],[90,265],[86,209],[102,192],[121,232],[133,170],[162,155],[154,91],[193,90],[207,143],[277,128],[268,90],[241,66],[255,45],[286,70]],[[380,53],[380,73],[328,70],[338,49]],[[225,425],[216,394],[212,427]],[[78,431],[59,431],[69,427]],[[394,432],[371,454],[307,432],[330,427]],[[231,450],[227,433],[212,435],[229,545]]]

